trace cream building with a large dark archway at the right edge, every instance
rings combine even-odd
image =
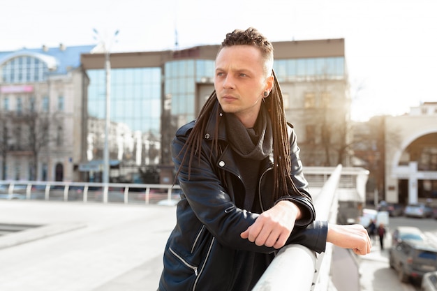
[[[437,102],[385,119],[385,165],[388,202],[437,204]]]

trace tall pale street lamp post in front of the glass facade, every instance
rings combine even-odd
[[[103,147],[103,177],[102,181],[104,184],[109,183],[109,172],[110,172],[110,154],[109,154],[109,144],[108,137],[110,131],[110,94],[111,94],[111,61],[110,61],[110,48],[114,41],[114,38],[117,36],[119,31],[115,31],[114,35],[110,39],[110,42],[107,41],[100,36],[97,29],[93,29],[96,36],[94,37],[96,40],[98,39],[98,49],[103,50],[105,54],[105,145]],[[96,50],[95,52],[98,52]]]

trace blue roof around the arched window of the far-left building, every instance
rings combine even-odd
[[[80,45],[74,47],[65,47],[64,50],[58,47],[43,47],[38,49],[15,50],[10,52],[0,52],[0,66],[14,57],[31,56],[45,61],[49,68],[55,68],[50,71],[50,75],[63,75],[69,70],[80,66],[80,55],[88,54],[95,45]]]

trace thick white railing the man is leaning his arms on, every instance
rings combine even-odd
[[[319,221],[333,223],[336,220],[338,202],[335,193],[341,168],[338,165],[318,195],[313,196]],[[327,291],[331,285],[331,261],[331,244],[327,244],[325,252],[319,255],[304,246],[290,244],[281,248],[252,291]]]

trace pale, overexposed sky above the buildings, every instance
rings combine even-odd
[[[1,11],[0,51],[99,39],[112,52],[172,50],[248,27],[271,41],[344,38],[355,121],[437,102],[435,0],[15,0]]]

